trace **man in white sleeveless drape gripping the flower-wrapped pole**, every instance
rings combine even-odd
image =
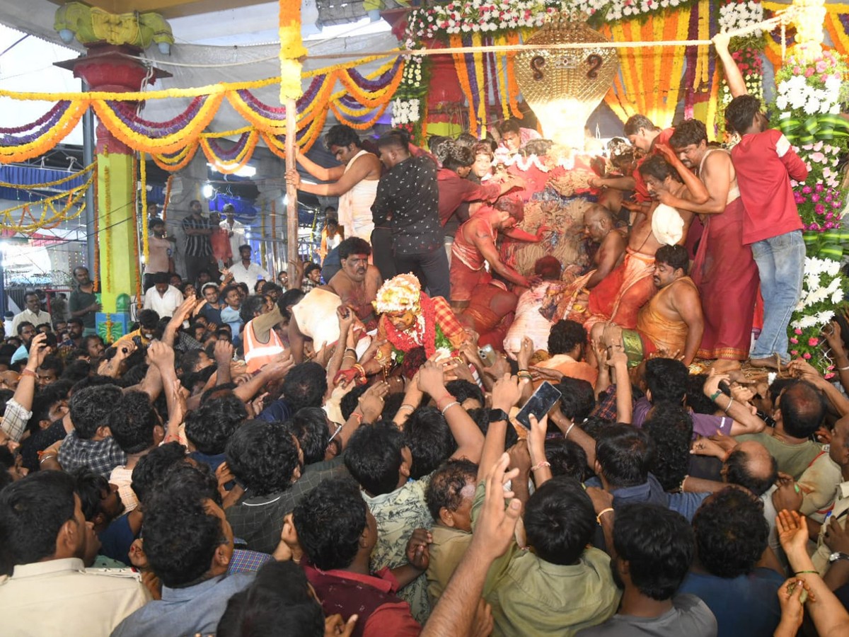
[[[297,160],[312,177],[333,183],[302,183],[301,176],[294,170],[286,173],[286,182],[305,193],[339,197],[339,221],[345,228],[345,236],[369,241],[374,230],[371,206],[380,181],[380,159],[363,149],[353,128],[342,124],[330,127],[324,144],[341,166],[318,166],[300,152]]]

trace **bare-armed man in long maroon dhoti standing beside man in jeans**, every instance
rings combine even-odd
[[[703,308],[705,335],[699,358],[716,358],[712,367],[720,372],[739,369],[739,361],[749,357],[759,278],[751,245],[743,245],[745,207],[734,164],[727,150],[708,148],[705,125],[698,120],[679,123],[669,143],[684,166],[705,183],[709,195],[698,204],[671,193],[658,194],[661,203],[699,213],[706,220],[691,272],[701,297],[722,298],[722,303]]]

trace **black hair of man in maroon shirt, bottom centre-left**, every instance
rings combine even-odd
[[[298,542],[309,561],[322,571],[351,565],[360,549],[367,517],[363,494],[348,478],[319,483],[292,512]]]

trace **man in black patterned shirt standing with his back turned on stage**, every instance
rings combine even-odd
[[[374,224],[385,225],[391,215],[397,272],[415,274],[430,296],[447,299],[451,285],[439,223],[436,165],[430,157],[410,155],[406,140],[395,132],[386,133],[377,146],[388,170],[374,197]]]

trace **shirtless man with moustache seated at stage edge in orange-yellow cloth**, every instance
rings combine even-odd
[[[659,290],[637,317],[637,329],[608,324],[601,335],[604,347],[625,348],[628,364],[636,366],[649,354],[664,351],[693,362],[699,350],[704,317],[699,290],[687,276],[689,256],[682,245],[663,245],[655,254],[652,281]]]

